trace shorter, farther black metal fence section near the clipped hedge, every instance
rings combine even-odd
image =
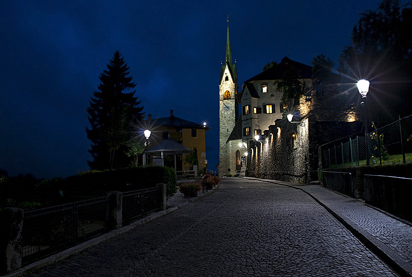
[[[149,213],[160,210],[162,203],[161,189],[148,188],[123,193],[123,225],[141,219]]]

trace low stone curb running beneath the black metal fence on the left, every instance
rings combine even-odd
[[[102,235],[100,235],[100,236],[98,236],[98,237],[92,238],[92,239],[90,239],[90,240],[88,240],[88,241],[85,241],[85,242],[83,242],[83,243],[81,243],[81,244],[75,245],[75,246],[73,246],[73,247],[71,247],[71,248],[69,248],[69,249],[66,249],[66,250],[64,250],[64,251],[61,251],[61,252],[56,253],[56,254],[54,254],[54,255],[51,255],[50,257],[47,257],[47,258],[45,258],[45,259],[43,259],[43,260],[34,262],[34,263],[30,264],[30,265],[27,265],[27,266],[19,269],[19,270],[16,271],[16,272],[13,272],[13,273],[11,273],[11,274],[9,274],[9,275],[5,275],[5,276],[3,276],[3,277],[20,277],[20,276],[23,276],[23,274],[29,274],[29,273],[34,272],[34,271],[36,271],[36,270],[39,270],[39,269],[41,269],[41,268],[43,268],[43,267],[45,267],[45,266],[48,266],[48,265],[54,264],[54,263],[56,263],[56,262],[58,262],[58,261],[61,261],[61,260],[65,259],[65,258],[67,258],[67,257],[69,257],[69,256],[71,256],[71,255],[73,255],[73,254],[76,254],[76,253],[78,253],[78,252],[81,252],[81,251],[83,251],[83,250],[85,250],[85,249],[87,249],[87,248],[89,248],[89,247],[91,247],[91,246],[94,246],[94,245],[96,245],[96,244],[98,244],[98,243],[100,243],[100,242],[102,242],[102,241],[104,241],[104,240],[107,240],[107,239],[109,239],[109,238],[111,238],[111,237],[114,237],[114,236],[116,236],[116,235],[122,234],[122,233],[124,233],[124,232],[130,231],[130,230],[132,230],[133,228],[135,228],[135,227],[137,227],[137,226],[140,226],[140,225],[143,225],[143,224],[145,224],[145,223],[151,222],[152,220],[154,220],[154,219],[156,219],[156,218],[158,218],[158,217],[161,217],[161,216],[164,216],[164,215],[166,215],[166,214],[168,214],[168,213],[171,213],[171,212],[173,212],[173,211],[176,211],[178,208],[179,208],[179,207],[172,207],[172,208],[169,208],[169,209],[167,209],[167,210],[157,212],[157,213],[155,213],[155,214],[153,214],[153,215],[150,215],[150,216],[148,216],[148,217],[142,218],[141,220],[135,221],[135,222],[131,223],[130,225],[127,225],[127,226],[122,227],[122,228],[117,229],[117,230],[109,231],[109,232],[104,233],[104,234],[102,234]]]

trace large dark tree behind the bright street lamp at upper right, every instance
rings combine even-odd
[[[410,114],[412,74],[412,4],[382,0],[376,11],[361,14],[351,46],[339,57],[343,81],[371,82],[369,116],[380,124]]]

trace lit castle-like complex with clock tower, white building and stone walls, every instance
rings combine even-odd
[[[299,71],[298,81],[308,90],[297,103],[293,99],[284,103],[283,89],[277,82],[291,68]],[[255,177],[312,180],[318,163],[317,147],[360,128],[359,121],[355,122],[359,116],[352,92],[342,89],[337,77],[330,74],[328,82],[312,84],[311,66],[284,57],[245,81],[239,92],[228,26],[219,85],[219,175],[237,171],[244,175],[248,171],[247,175]],[[288,123],[289,113],[294,114],[293,121],[302,123]]]

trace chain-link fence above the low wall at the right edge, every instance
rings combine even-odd
[[[369,132],[322,145],[322,168],[412,162],[412,115]]]

